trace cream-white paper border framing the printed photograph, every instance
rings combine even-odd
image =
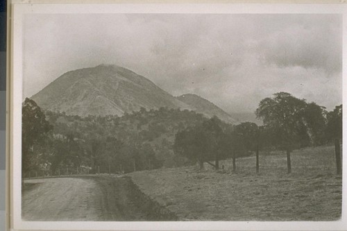
[[[246,3],[14,3],[12,4],[11,40],[11,223],[14,230],[345,230],[346,198],[342,198],[342,218],[329,222],[256,222],[256,221],[177,221],[177,222],[94,222],[94,221],[23,221],[21,217],[22,166],[22,93],[23,93],[23,19],[26,14],[114,14],[114,13],[187,13],[187,14],[341,14],[343,44],[347,44],[347,7],[344,4],[246,4]],[[346,46],[343,46],[343,74],[347,73]],[[346,99],[343,79],[343,99]],[[346,110],[344,109],[344,121]],[[344,123],[344,131],[347,126]],[[344,136],[343,144],[347,140]],[[344,149],[343,149],[344,150]],[[346,151],[344,150],[344,153]],[[343,163],[343,194],[346,192],[346,161]]]

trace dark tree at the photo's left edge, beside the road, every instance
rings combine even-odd
[[[37,103],[26,98],[22,105],[22,178],[33,165],[35,145],[42,144],[52,129]]]

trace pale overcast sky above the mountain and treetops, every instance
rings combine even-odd
[[[174,96],[254,112],[276,92],[342,102],[341,15],[26,15],[24,96],[67,71],[115,64]]]

